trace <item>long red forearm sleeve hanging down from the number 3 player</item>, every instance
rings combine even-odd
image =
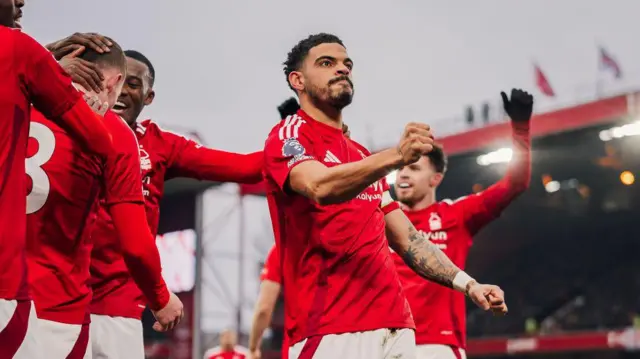
[[[169,302],[169,291],[162,279],[160,254],[146,224],[142,204],[118,203],[109,213],[120,237],[122,256],[129,273],[153,310]]]

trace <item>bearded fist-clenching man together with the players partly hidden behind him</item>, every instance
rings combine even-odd
[[[352,67],[340,39],[328,34],[301,41],[285,62],[301,109],[283,104],[285,120],[265,145],[276,245],[261,275],[250,357],[261,357],[284,290],[283,358],[465,358],[464,294],[484,310],[507,307],[499,288],[457,268],[475,233],[529,186],[533,97],[501,93],[514,151],[503,179],[437,202],[447,160],[428,127],[408,125],[396,149],[375,155],[337,130],[353,96]],[[399,204],[384,183],[393,169]]]

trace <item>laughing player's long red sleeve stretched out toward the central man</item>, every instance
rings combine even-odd
[[[214,150],[178,134],[160,130],[163,142],[171,144],[167,177],[258,183],[262,180],[262,152],[248,155]]]

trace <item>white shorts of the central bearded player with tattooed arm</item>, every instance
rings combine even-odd
[[[289,359],[413,359],[412,329],[378,329],[307,338],[289,348]]]

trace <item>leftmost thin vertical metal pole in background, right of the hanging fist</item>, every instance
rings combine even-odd
[[[204,355],[202,350],[202,261],[204,258],[203,235],[204,235],[204,192],[196,194],[196,253],[195,253],[195,285],[193,288],[193,333],[192,349],[193,359],[201,359]]]

